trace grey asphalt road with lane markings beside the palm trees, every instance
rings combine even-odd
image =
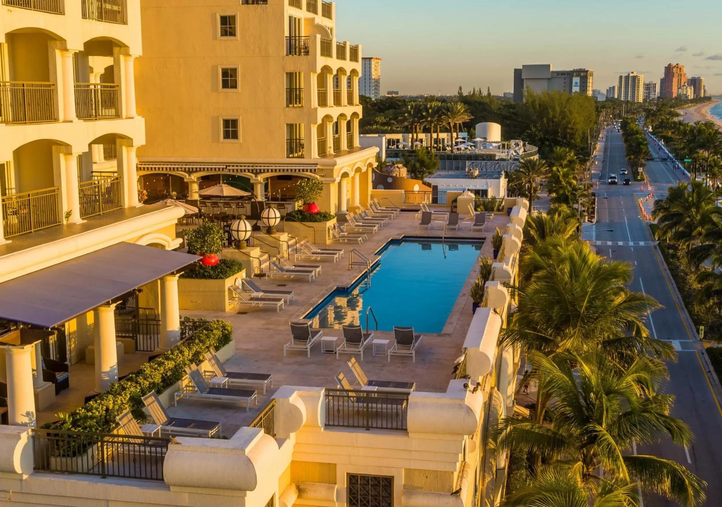
[[[595,175],[600,180],[599,188],[596,188],[599,221],[593,229],[596,237],[592,244],[596,244],[601,255],[632,263],[635,272],[632,290],[644,291],[663,305],[651,314],[648,327],[656,338],[671,341],[679,351],[678,361],[669,363],[670,381],[666,392],[677,397],[672,415],[684,420],[695,433],[695,443],[690,449],[663,441],[640,448],[638,453],[684,464],[708,482],[705,506],[722,506],[722,481],[718,476],[722,472],[722,410],[697,352],[701,344],[692,329],[692,322],[683,313],[679,293],[663,268],[664,260],[653,246],[646,222],[640,217],[636,198],[644,197],[648,190],[641,190],[640,184],[634,182],[632,186],[621,185],[624,176],[619,177],[619,185],[606,183],[609,174],[618,174],[619,169],[625,167],[622,135],[610,129],[606,136],[601,146],[604,162],[601,167],[598,164]],[[655,146],[651,146],[651,150],[656,153]],[[669,185],[678,181],[678,173],[663,162],[649,162],[647,175],[657,198],[664,197]],[[663,506],[677,506],[677,503],[655,497],[646,499],[644,507]]]

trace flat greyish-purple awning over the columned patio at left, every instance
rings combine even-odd
[[[0,319],[53,327],[200,257],[118,243],[0,283]]]

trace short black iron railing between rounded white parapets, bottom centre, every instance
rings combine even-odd
[[[409,394],[326,389],[326,426],[406,430]]]

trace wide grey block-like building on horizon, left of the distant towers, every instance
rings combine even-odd
[[[571,71],[554,71],[549,63],[523,65],[514,69],[514,102],[524,100],[524,91],[532,92],[581,93],[592,95],[594,71],[573,69]]]

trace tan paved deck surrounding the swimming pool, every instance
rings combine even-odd
[[[447,232],[448,239],[467,237],[485,239],[490,237],[496,227],[505,232],[508,224],[505,213],[497,213],[486,232],[469,230],[467,223],[464,230]],[[220,420],[223,423],[223,433],[230,435],[240,426],[248,425],[259,411],[269,402],[271,394],[282,385],[306,387],[337,387],[334,376],[342,371],[349,379],[353,379],[352,371],[346,361],[352,356],[342,354],[336,361],[336,356],[321,353],[321,343],[313,346],[310,358],[305,352],[289,351],[283,356],[283,345],[290,341],[289,322],[301,319],[318,302],[322,301],[337,286],[349,286],[362,274],[362,268],[357,266],[349,270],[349,251],[356,248],[362,255],[375,259],[374,252],[383,247],[389,239],[406,236],[440,237],[439,228],[431,231],[417,231],[418,220],[415,213],[402,212],[389,224],[379,230],[377,234],[369,234],[364,244],[337,243],[334,247],[342,247],[346,255],[337,263],[330,261],[310,262],[299,260],[299,263],[314,263],[323,265],[321,276],[311,283],[301,281],[281,281],[256,279],[261,288],[280,288],[294,291],[295,301],[285,307],[281,312],[269,309],[243,309],[240,312],[182,312],[191,317],[222,318],[233,325],[235,338],[235,355],[226,363],[229,371],[245,371],[273,374],[274,389],[267,394],[258,393],[258,407],[251,407],[246,413],[245,408],[230,408],[223,405],[214,405],[204,402],[179,401],[178,407],[169,407],[170,415],[175,417],[196,417],[207,420]],[[492,255],[490,242],[484,242],[480,255]],[[464,287],[458,296],[450,316],[446,322],[444,332],[438,335],[424,335],[416,362],[411,358],[392,356],[387,361],[386,356],[373,356],[369,346],[363,361],[360,356],[354,355],[360,362],[369,379],[392,380],[400,382],[416,382],[417,391],[445,392],[448,382],[453,378],[453,363],[461,354],[461,346],[466,338],[466,331],[471,323],[471,299],[469,288],[478,273],[478,265],[471,270]],[[336,345],[342,343],[342,330],[324,329],[323,335],[339,337]],[[393,343],[393,332],[375,332],[375,338],[388,339]]]

